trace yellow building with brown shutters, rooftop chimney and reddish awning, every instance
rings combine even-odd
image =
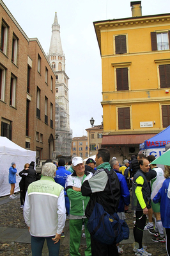
[[[118,160],[170,124],[170,13],[93,22],[102,58],[102,145]],[[118,150],[119,149],[119,150]]]

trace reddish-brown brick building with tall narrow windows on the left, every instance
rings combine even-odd
[[[0,1],[0,128],[37,157],[54,153],[55,74],[38,39],[29,39]],[[54,85],[53,85],[54,83]]]

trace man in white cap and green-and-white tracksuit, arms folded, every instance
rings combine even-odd
[[[66,193],[70,201],[70,255],[79,256],[81,243],[82,223],[85,226],[86,244],[85,256],[91,256],[90,235],[87,228],[88,219],[85,216],[85,209],[89,196],[82,196],[82,183],[91,178],[92,173],[85,171],[81,157],[72,158],[73,173],[66,178]]]

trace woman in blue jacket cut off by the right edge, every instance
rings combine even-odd
[[[162,187],[157,191],[157,187],[153,191],[151,199],[153,198],[153,203],[160,202],[160,216],[162,220],[162,225],[166,229],[166,250],[167,255],[170,255],[170,166],[165,166],[164,176],[166,180],[162,183]]]

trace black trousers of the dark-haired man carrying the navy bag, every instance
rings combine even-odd
[[[119,256],[116,244],[102,244],[91,236],[91,256]]]

